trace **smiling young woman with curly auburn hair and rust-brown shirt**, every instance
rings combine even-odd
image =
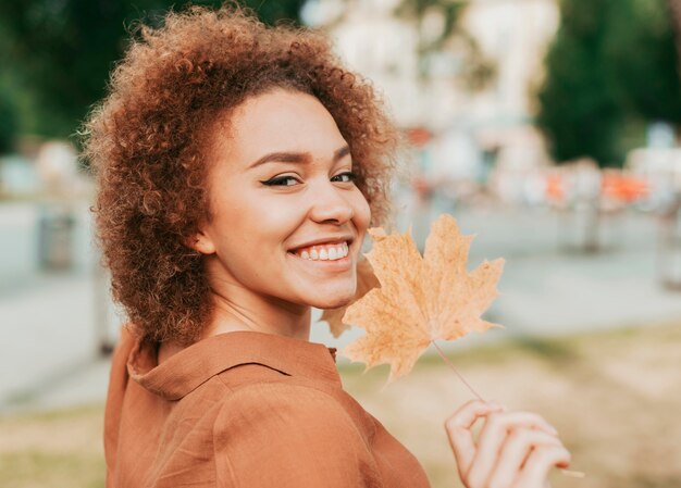
[[[322,35],[234,8],[141,37],[87,123],[99,239],[131,320],[107,486],[429,486],[343,391],[334,351],[308,341],[312,306],[354,299],[364,233],[387,216],[399,138],[371,85]],[[531,413],[470,402],[445,427],[469,488],[541,488],[569,462]]]

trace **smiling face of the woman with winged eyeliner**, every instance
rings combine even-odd
[[[336,308],[355,295],[370,210],[352,157],[318,99],[275,89],[247,99],[218,134],[211,218],[196,248],[211,287]]]

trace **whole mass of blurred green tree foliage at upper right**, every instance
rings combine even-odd
[[[623,160],[631,120],[681,122],[681,79],[665,0],[562,0],[537,124],[557,161]]]

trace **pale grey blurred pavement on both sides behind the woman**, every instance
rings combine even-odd
[[[37,210],[0,204],[0,413],[101,401],[108,361],[98,354],[101,334],[115,337],[119,320],[97,284],[86,209],[77,212],[75,266],[45,274],[35,262]],[[681,293],[656,278],[656,222],[630,214],[607,223],[606,253],[559,251],[569,227],[545,211],[466,211],[456,215],[465,234],[478,234],[471,268],[483,259],[506,259],[497,298],[486,317],[502,323],[469,347],[517,335],[555,335],[651,321],[681,321]],[[102,330],[103,316],[110,323]],[[99,317],[99,318],[98,318]],[[325,325],[312,340],[343,347],[355,329],[333,339]]]

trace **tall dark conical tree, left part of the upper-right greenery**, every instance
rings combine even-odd
[[[546,55],[537,114],[558,162],[591,157],[608,165],[618,160],[616,135],[624,113],[606,61],[612,1],[620,0],[560,2],[560,27]]]

